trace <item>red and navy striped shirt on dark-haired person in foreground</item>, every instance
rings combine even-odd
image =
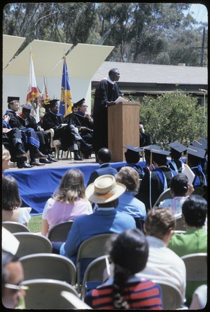
[[[123,289],[123,297],[129,309],[162,310],[161,288],[149,279],[129,281]],[[114,309],[112,285],[102,284],[85,296],[85,302],[93,309]]]

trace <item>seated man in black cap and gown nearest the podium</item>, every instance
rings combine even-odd
[[[78,110],[76,112],[73,112],[73,114],[68,114],[64,118],[64,122],[70,125],[74,125],[76,128],[78,128],[78,132],[82,139],[84,139],[87,144],[92,145],[94,137],[93,119],[91,118],[90,114],[87,113],[88,106],[85,103],[85,98],[82,98],[80,101],[78,101],[76,105],[78,107]],[[85,151],[82,150],[81,146],[80,150],[86,159],[91,156],[91,149]]]

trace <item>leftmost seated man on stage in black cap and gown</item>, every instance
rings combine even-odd
[[[37,133],[33,128],[26,128],[19,121],[19,117],[17,116],[17,111],[19,110],[19,98],[8,97],[8,110],[5,115],[10,116],[8,121],[11,128],[19,128],[22,133],[22,139],[24,141],[24,145],[27,150],[30,152],[30,159],[34,158],[46,158],[47,155],[44,155],[40,152],[40,140],[37,136]],[[19,168],[28,168],[26,164],[22,164]]]

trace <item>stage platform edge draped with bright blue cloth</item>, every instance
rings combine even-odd
[[[140,162],[144,164],[144,162]],[[125,162],[110,163],[114,168],[123,166]],[[31,216],[42,214],[46,200],[48,200],[60,184],[64,173],[70,168],[78,168],[85,177],[85,185],[92,171],[99,168],[94,155],[90,159],[74,161],[73,159],[60,158],[58,162],[34,166],[33,168],[19,169],[11,164],[4,175],[12,175],[17,180],[22,207],[31,207]]]

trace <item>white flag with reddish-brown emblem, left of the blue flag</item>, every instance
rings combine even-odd
[[[33,54],[30,51],[30,75],[28,78],[28,94],[26,97],[26,103],[29,102],[33,105],[33,113],[35,114],[36,121],[40,121],[39,107],[37,103],[34,103],[34,99],[40,96],[37,89],[37,82],[35,78],[35,72],[33,67]]]

